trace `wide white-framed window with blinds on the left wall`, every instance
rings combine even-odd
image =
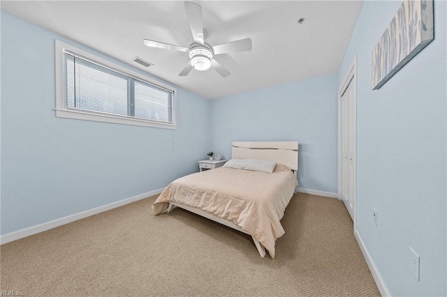
[[[177,128],[176,90],[56,40],[56,116]]]

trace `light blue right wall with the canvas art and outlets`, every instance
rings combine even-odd
[[[339,71],[341,84],[358,55],[358,232],[390,294],[446,296],[446,2],[434,41],[372,91],[371,52],[401,3],[365,1]]]

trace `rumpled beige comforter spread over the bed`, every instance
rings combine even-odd
[[[284,234],[279,220],[297,185],[284,165],[271,174],[220,167],[173,181],[152,208],[158,215],[178,202],[217,215],[248,231],[273,258],[274,242]]]

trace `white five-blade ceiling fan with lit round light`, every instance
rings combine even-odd
[[[168,43],[161,43],[159,41],[145,39],[145,45],[148,47],[156,47],[166,50],[177,50],[179,52],[189,53],[189,63],[183,68],[179,76],[186,76],[191,69],[199,71],[205,71],[211,67],[219,73],[222,77],[230,75],[225,67],[214,59],[217,54],[227,54],[230,52],[249,52],[251,51],[251,38],[244,38],[235,40],[230,43],[223,43],[221,45],[214,45],[212,47],[205,39],[207,38],[207,32],[203,29],[202,22],[202,8],[197,3],[185,1],[184,9],[186,10],[186,16],[191,26],[191,32],[193,33],[193,43],[189,47],[182,47],[179,45],[170,45]]]

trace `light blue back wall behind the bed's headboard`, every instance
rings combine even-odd
[[[300,188],[337,192],[337,74],[212,101],[212,147],[231,142],[298,141]]]

